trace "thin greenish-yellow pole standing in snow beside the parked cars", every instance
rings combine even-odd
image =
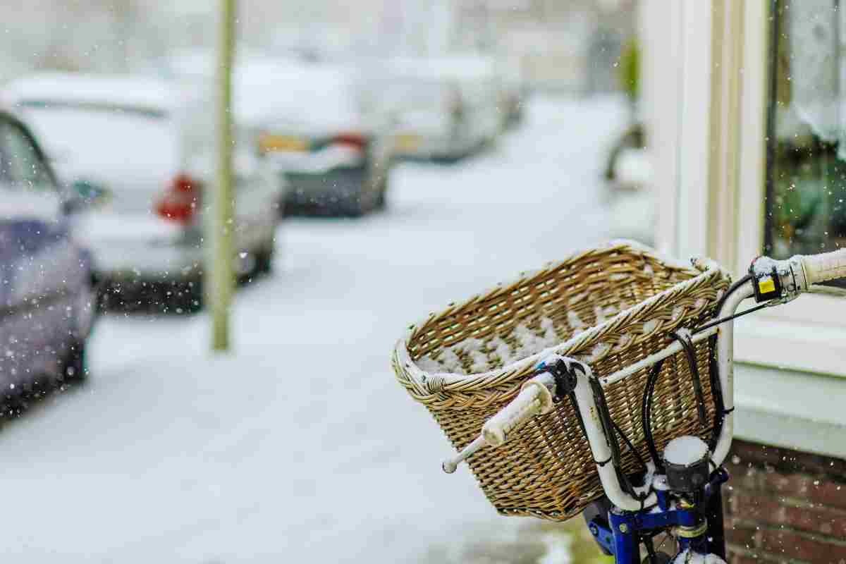
[[[235,47],[235,2],[220,0],[217,45],[217,182],[211,198],[211,268],[206,294],[211,305],[211,348],[229,350],[229,304],[234,287],[234,194],[232,189],[232,66]]]

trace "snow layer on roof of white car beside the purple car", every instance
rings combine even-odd
[[[10,81],[3,100],[28,103],[102,105],[141,110],[172,110],[179,100],[166,81],[133,75],[41,73]]]

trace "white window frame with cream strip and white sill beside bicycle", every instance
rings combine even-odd
[[[735,277],[763,249],[769,4],[640,4],[656,244]],[[734,336],[734,434],[846,457],[846,298],[807,294],[737,320]]]

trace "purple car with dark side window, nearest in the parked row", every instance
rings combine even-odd
[[[82,204],[29,130],[0,112],[0,402],[85,376],[96,285],[68,214]]]

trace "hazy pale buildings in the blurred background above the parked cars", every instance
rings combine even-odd
[[[618,87],[634,0],[360,0],[242,3],[244,47],[304,57],[483,53],[506,57],[534,89]],[[211,47],[214,3],[10,0],[0,79],[30,69],[122,72],[173,49]]]

